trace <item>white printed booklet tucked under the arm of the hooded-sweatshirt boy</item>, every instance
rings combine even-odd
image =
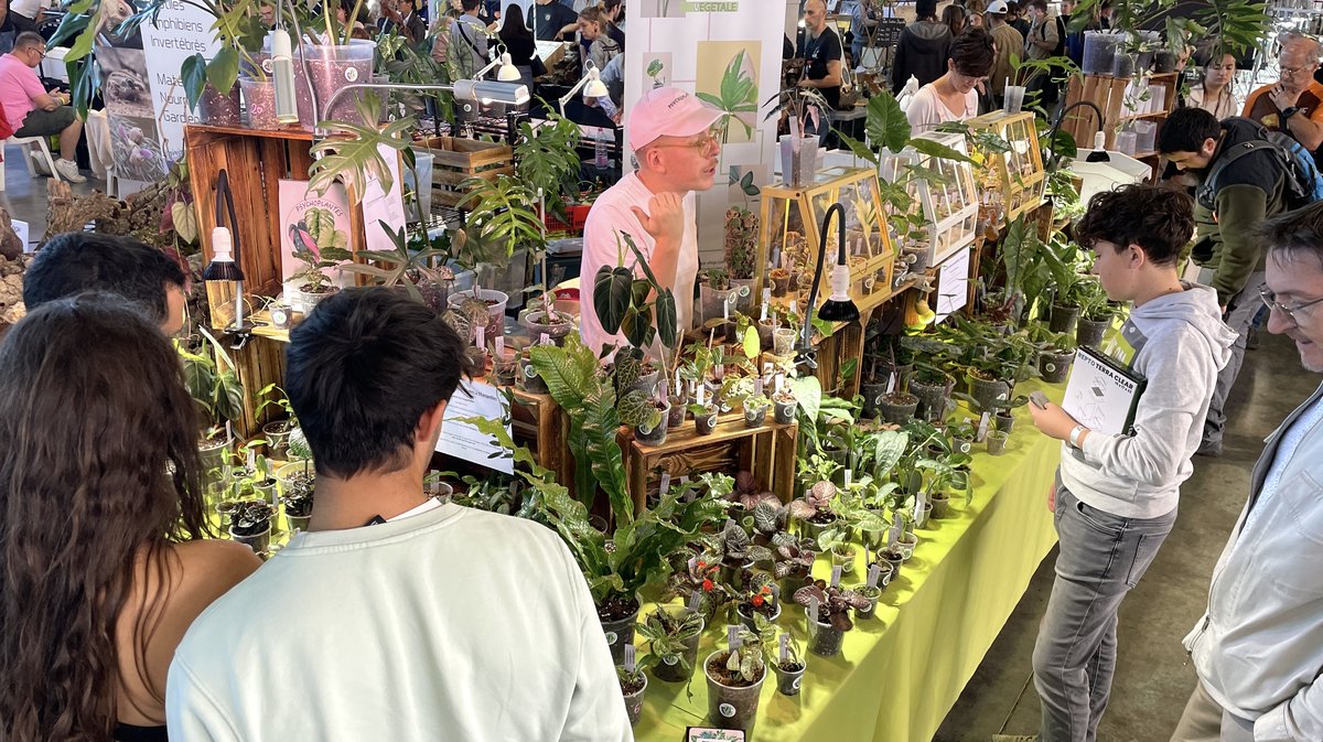
[[[1076,352],[1061,409],[1103,435],[1130,435],[1148,380],[1093,348]]]

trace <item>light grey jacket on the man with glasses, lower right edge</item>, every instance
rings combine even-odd
[[[1246,522],[1283,434],[1319,398],[1323,386],[1269,436],[1213,567],[1208,612],[1184,640],[1208,693],[1254,722],[1256,742],[1323,739],[1323,425],[1306,433],[1271,500]]]

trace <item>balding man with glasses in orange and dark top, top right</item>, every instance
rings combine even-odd
[[[1323,85],[1314,81],[1319,67],[1319,42],[1303,33],[1287,32],[1281,38],[1277,56],[1281,78],[1250,93],[1245,101],[1245,118],[1254,119],[1270,131],[1291,135],[1320,161],[1323,145]]]

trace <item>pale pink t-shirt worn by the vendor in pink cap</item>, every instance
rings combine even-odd
[[[651,258],[656,239],[643,229],[631,206],[648,213],[648,201],[652,196],[654,193],[639,179],[639,173],[631,172],[598,196],[587,213],[587,222],[583,225],[583,258],[579,267],[579,337],[594,353],[603,345],[623,347],[626,340],[623,335],[614,337],[607,335],[597,321],[597,312],[593,308],[593,279],[602,266],[619,265],[622,250],[624,265],[634,266],[634,272],[643,275],[643,268],[635,266],[634,254],[624,239],[617,242],[617,231],[628,233],[639,251]],[[684,235],[680,239],[680,258],[676,262],[675,286],[671,290],[675,295],[675,315],[680,332],[689,329],[693,323],[693,283],[699,276],[699,226],[695,201],[693,192],[685,193]]]

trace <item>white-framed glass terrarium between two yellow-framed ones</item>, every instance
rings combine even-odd
[[[919,138],[968,156],[964,136],[959,134],[927,132]],[[979,194],[970,163],[933,157],[906,147],[900,153],[882,152],[878,176],[888,184],[904,185],[922,208],[923,226],[913,229],[900,246],[906,259],[913,261],[909,270],[921,272],[974,242]]]

